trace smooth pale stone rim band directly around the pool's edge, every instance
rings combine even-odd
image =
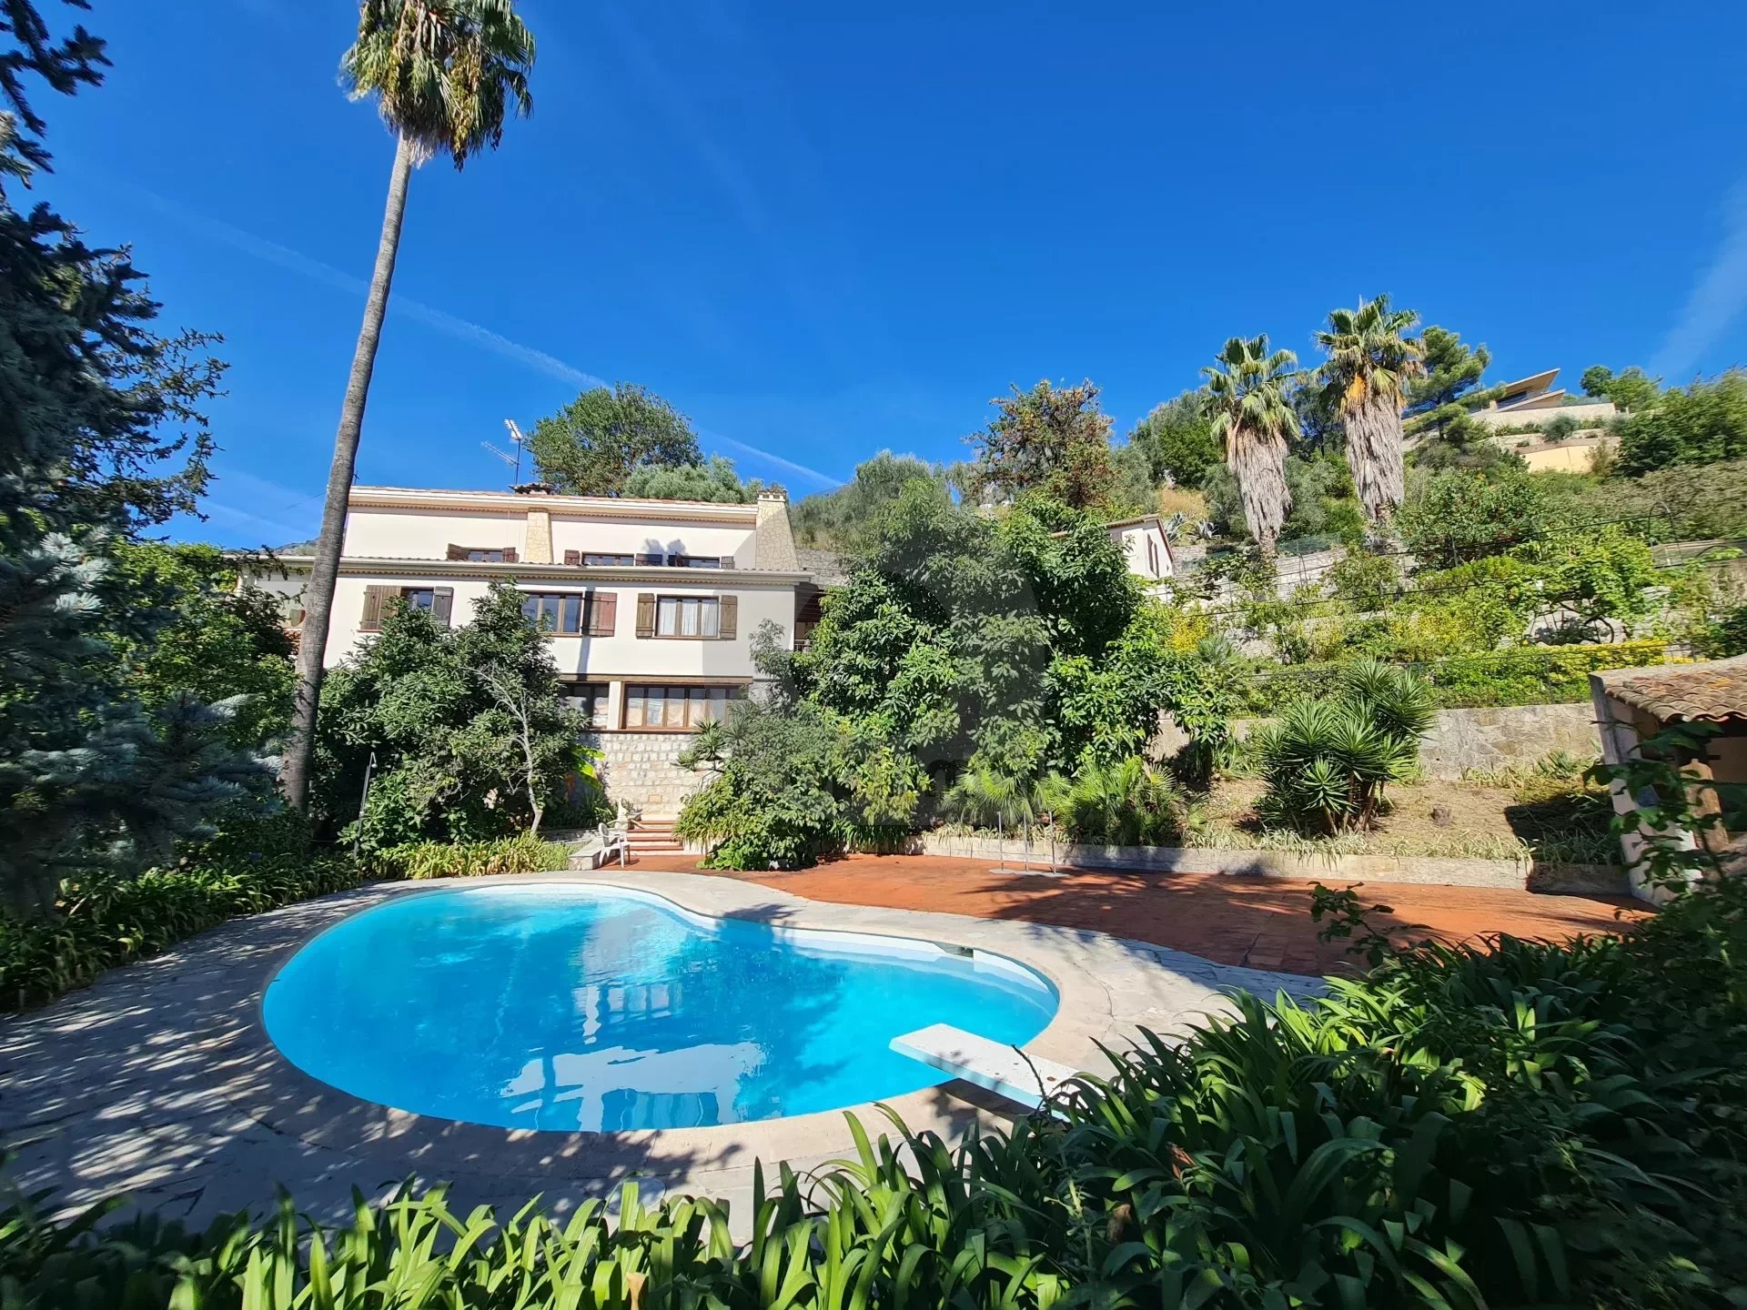
[[[652,886],[659,884],[659,886]],[[749,1167],[753,1160],[776,1162],[791,1156],[853,1153],[854,1137],[846,1114],[863,1123],[886,1127],[880,1106],[887,1106],[912,1132],[963,1132],[971,1120],[985,1116],[978,1106],[942,1093],[942,1085],[893,1097],[886,1102],[860,1102],[840,1109],[791,1114],[774,1120],[723,1123],[708,1128],[636,1128],[615,1132],[561,1132],[501,1128],[482,1123],[444,1120],[430,1114],[381,1106],[342,1092],[292,1064],[267,1034],[262,1003],[267,985],[280,969],[321,933],[358,914],[400,896],[487,886],[597,886],[657,896],[681,912],[709,919],[753,919],[770,922],[772,901],[781,920],[772,927],[800,927],[825,933],[889,936],[928,941],[954,948],[984,950],[1022,964],[1045,978],[1057,994],[1055,1017],[1024,1050],[1074,1067],[1095,1067],[1088,1055],[1115,1020],[1109,989],[1094,975],[1053,954],[1031,954],[1022,943],[982,940],[984,924],[1001,920],[963,919],[966,931],[942,933],[938,927],[917,931],[905,919],[924,917],[910,910],[877,910],[805,901],[798,896],[760,887],[737,879],[685,873],[643,873],[636,882],[615,873],[542,873],[475,879],[430,879],[419,882],[370,884],[348,894],[342,914],[252,962],[252,1004],[248,1024],[229,1041],[232,1078],[218,1090],[238,1111],[273,1132],[295,1137],[307,1146],[363,1156],[393,1156],[419,1174],[444,1170],[552,1179],[596,1179],[603,1174],[660,1177],[690,1172],[697,1160],[715,1169]],[[846,919],[856,919],[846,926]],[[954,915],[952,919],[957,920]],[[872,922],[863,922],[872,920]],[[1001,934],[1006,936],[1006,934]]]

